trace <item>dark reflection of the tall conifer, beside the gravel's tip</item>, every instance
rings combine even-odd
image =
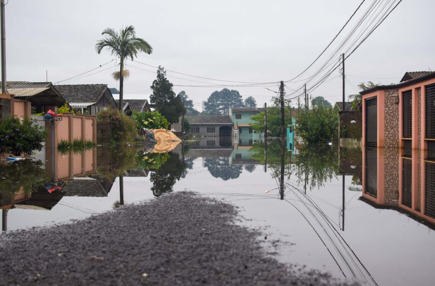
[[[156,197],[172,192],[173,185],[186,175],[186,163],[180,160],[176,153],[167,154],[169,156],[167,160],[149,176],[149,180],[153,183],[151,191]]]

